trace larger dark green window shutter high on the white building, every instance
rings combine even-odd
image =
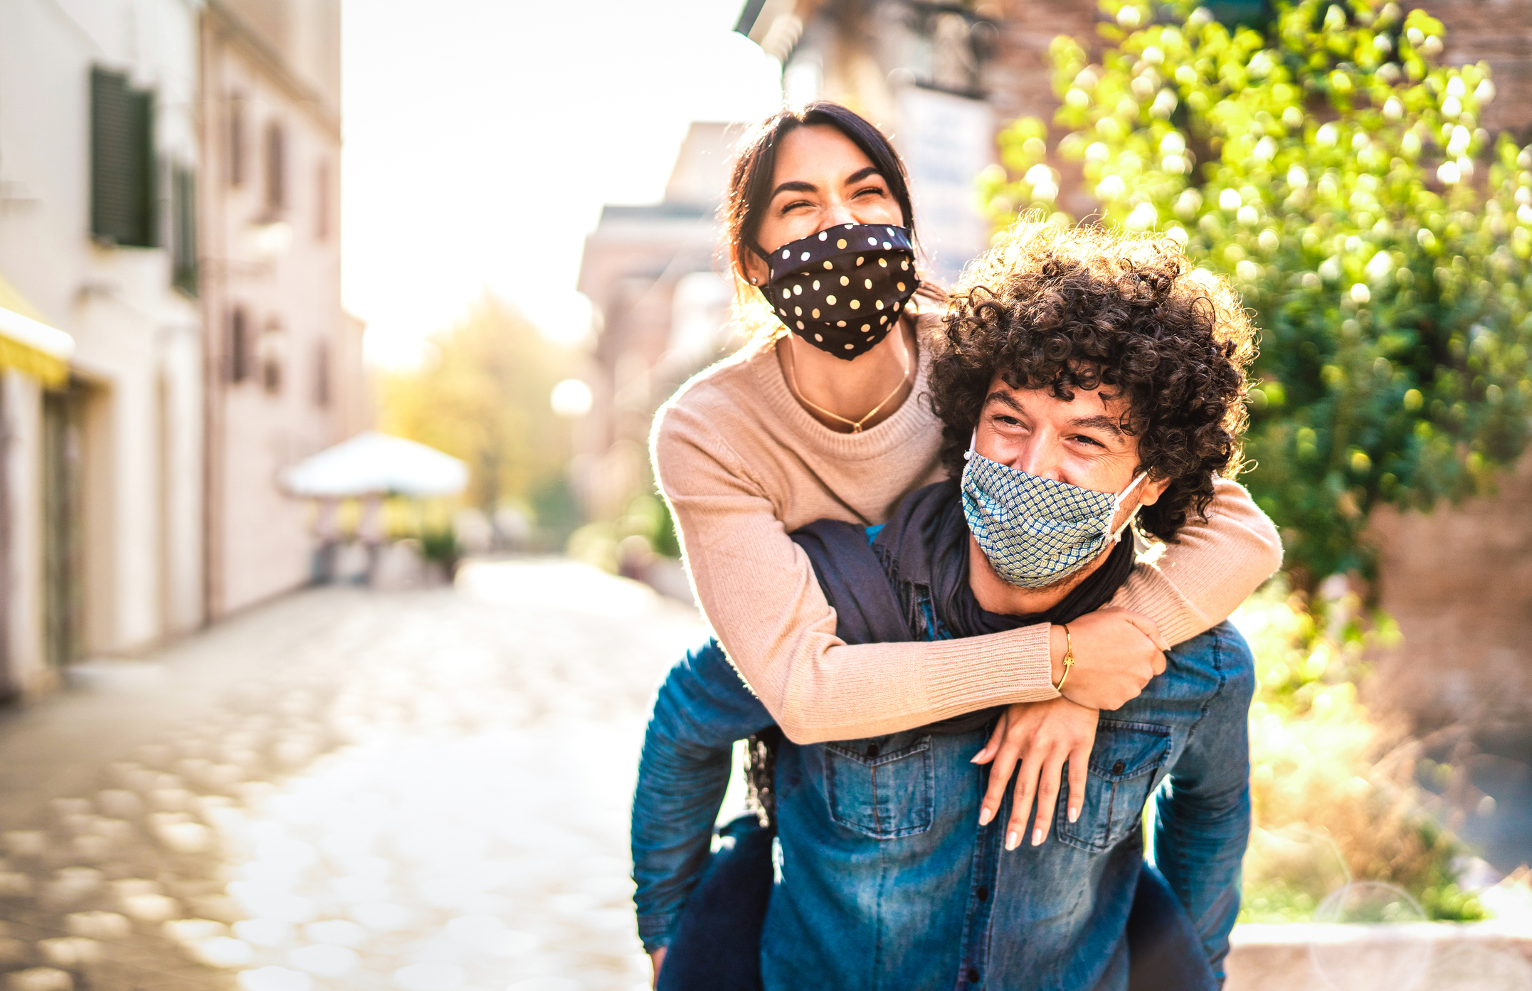
[[[90,69],[90,233],[110,245],[152,248],[155,196],[155,93],[127,77]]]

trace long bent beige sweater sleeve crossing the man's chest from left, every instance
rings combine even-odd
[[[703,417],[662,410],[654,466],[703,616],[794,743],[879,737],[1057,697],[1046,626],[935,643],[836,637],[807,554]]]

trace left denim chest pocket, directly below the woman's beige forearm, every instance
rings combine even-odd
[[[824,744],[830,818],[876,839],[931,827],[936,783],[930,734],[902,732]]]

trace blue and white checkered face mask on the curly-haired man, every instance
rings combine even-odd
[[[1115,544],[1112,519],[1143,472],[1120,493],[1092,492],[990,461],[968,446],[962,515],[994,573],[1019,588],[1054,585]],[[1134,507],[1134,515],[1138,509]]]

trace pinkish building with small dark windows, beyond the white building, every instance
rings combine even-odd
[[[340,308],[340,0],[211,0],[201,25],[207,616],[309,577],[277,473],[366,426]]]

